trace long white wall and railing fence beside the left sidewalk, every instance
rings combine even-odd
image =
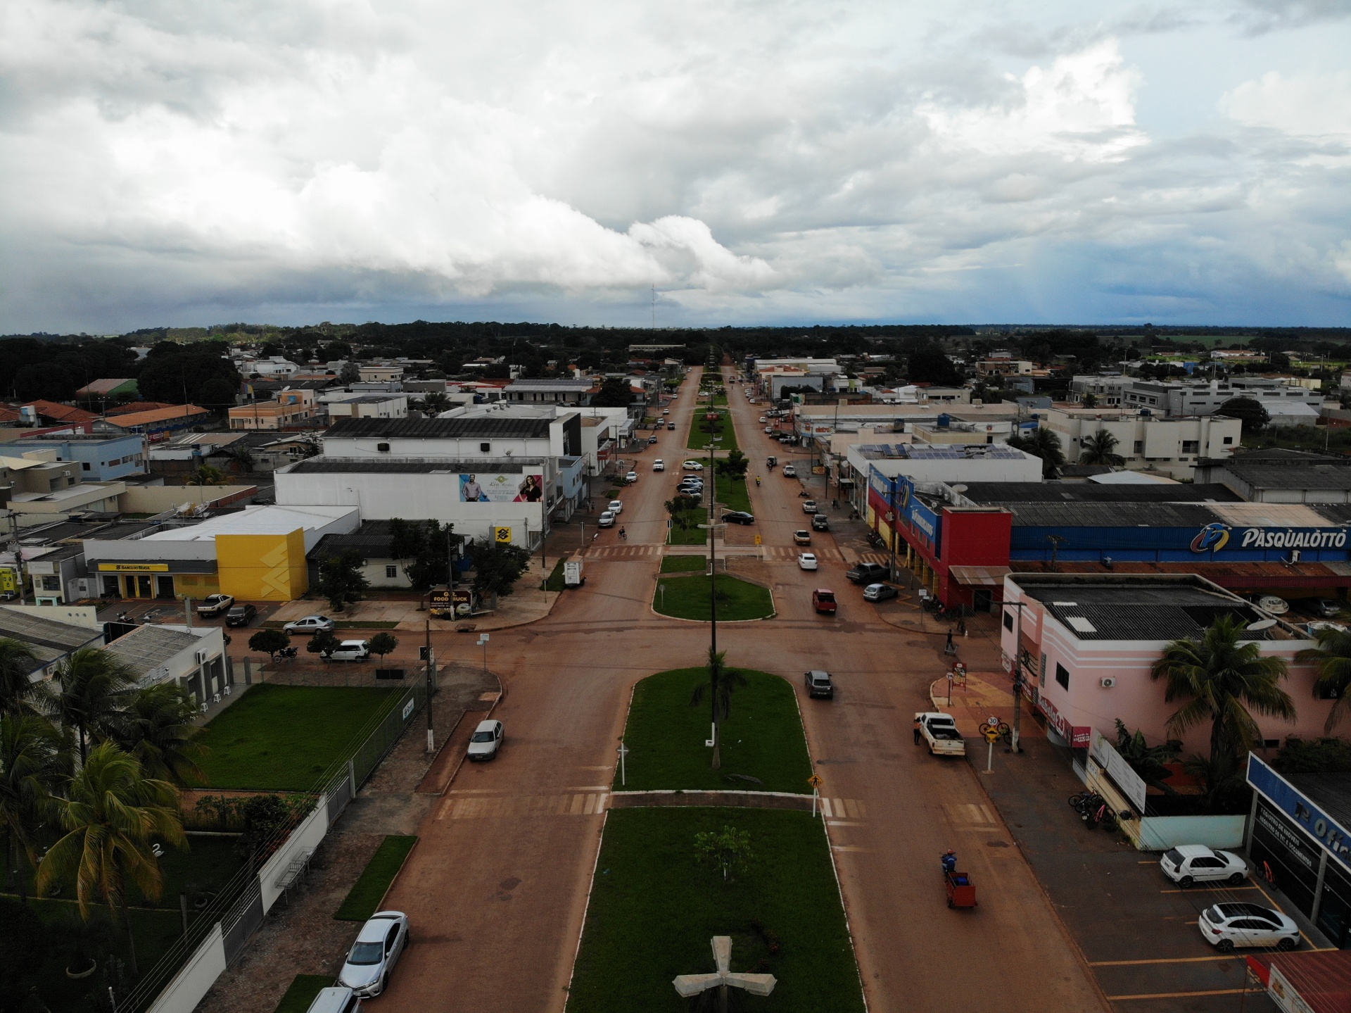
[[[263,843],[263,853],[273,848],[263,864],[247,863],[240,868],[118,1009],[192,1013],[216,978],[243,952],[267,912],[304,872],[334,821],[424,706],[427,687],[419,679],[390,710],[373,717],[308,793],[312,807],[300,824],[284,837]]]

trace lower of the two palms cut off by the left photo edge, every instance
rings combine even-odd
[[[28,902],[30,866],[36,862],[42,806],[62,780],[61,733],[46,718],[0,714],[0,830],[4,832],[4,879],[19,872],[19,899]]]

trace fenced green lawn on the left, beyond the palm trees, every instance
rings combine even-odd
[[[208,749],[200,764],[205,784],[305,791],[397,699],[397,690],[254,686],[197,738]]]

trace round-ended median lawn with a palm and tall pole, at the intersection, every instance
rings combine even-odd
[[[735,665],[734,665],[735,667]],[[746,686],[732,691],[732,709],[721,725],[723,770],[709,767],[712,749],[708,697],[692,705],[694,687],[708,682],[705,668],[658,672],[634,687],[624,728],[627,783],[632,791],[655,788],[746,788],[807,794],[812,761],[793,687],[769,672],[738,669]],[[754,780],[732,778],[739,774]],[[615,772],[615,788],[620,788]]]

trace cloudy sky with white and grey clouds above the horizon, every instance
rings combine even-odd
[[[1351,326],[1351,0],[5,0],[0,333]]]

